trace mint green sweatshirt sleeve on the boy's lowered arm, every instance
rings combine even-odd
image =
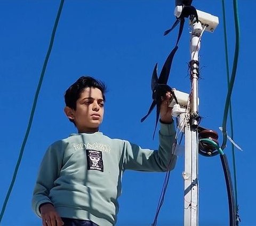
[[[62,164],[61,144],[56,142],[50,146],[39,167],[39,172],[33,192],[32,208],[41,217],[39,206],[43,203],[52,203],[49,198],[50,190],[54,187],[54,181],[60,173]]]

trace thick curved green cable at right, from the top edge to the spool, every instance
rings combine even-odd
[[[238,7],[237,7],[237,0],[233,0],[234,5],[234,15],[235,15],[235,30],[236,30],[236,46],[235,46],[235,55],[233,61],[233,68],[231,72],[231,78],[228,86],[228,94],[225,103],[225,110],[223,114],[223,121],[222,121],[222,133],[223,133],[223,141],[221,145],[221,149],[224,150],[227,144],[227,117],[228,117],[228,109],[231,99],[231,93],[233,90],[235,77],[236,77],[236,69],[237,69],[237,62],[238,62],[238,54],[239,54],[239,41],[240,41],[240,30],[239,30],[239,18],[238,18]]]

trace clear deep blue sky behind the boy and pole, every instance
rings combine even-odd
[[[0,2],[1,158],[0,204],[11,182],[15,164],[49,45],[59,1]],[[200,52],[199,111],[202,126],[219,132],[227,94],[221,1],[195,0],[197,9],[217,15],[213,34],[204,33]],[[234,85],[234,140],[241,225],[255,220],[255,13],[256,1],[238,2],[241,49]],[[155,111],[144,122],[151,103],[150,79],[156,62],[161,70],[172,50],[178,28],[163,32],[175,18],[174,1],[66,1],[39,95],[33,126],[2,225],[40,225],[31,210],[38,166],[46,148],[76,131],[63,114],[63,93],[82,75],[108,85],[106,114],[100,130],[111,138],[127,139],[145,148],[152,140]],[[235,47],[233,1],[226,1],[230,68]],[[189,26],[175,55],[169,85],[189,92]],[[228,126],[229,127],[229,126]],[[225,149],[231,167],[230,143]],[[158,225],[183,224],[183,156],[171,173]],[[119,226],[153,222],[165,174],[126,172]],[[199,224],[228,225],[228,201],[219,156],[199,157]]]

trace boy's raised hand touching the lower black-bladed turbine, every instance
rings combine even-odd
[[[171,92],[166,92],[162,98],[160,106],[160,119],[162,123],[172,123],[172,108],[168,107],[172,98]]]

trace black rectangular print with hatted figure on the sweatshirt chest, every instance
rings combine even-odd
[[[102,152],[95,150],[86,150],[87,170],[98,170],[103,172]]]

